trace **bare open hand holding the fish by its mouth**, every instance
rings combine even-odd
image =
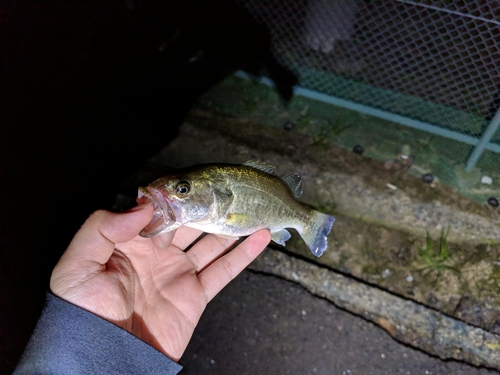
[[[207,303],[271,235],[260,230],[225,254],[234,241],[209,234],[184,252],[201,232],[138,236],[152,216],[152,205],[92,214],[54,268],[50,288],[178,361]]]

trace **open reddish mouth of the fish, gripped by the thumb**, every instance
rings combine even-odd
[[[141,237],[151,238],[181,226],[182,210],[169,199],[168,195],[150,187],[140,187],[137,203],[141,205],[150,202],[154,205],[153,218],[139,233]]]

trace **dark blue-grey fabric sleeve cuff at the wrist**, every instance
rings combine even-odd
[[[177,374],[182,366],[124,329],[48,293],[14,374]]]

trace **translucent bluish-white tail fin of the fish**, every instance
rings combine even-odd
[[[332,230],[334,222],[335,218],[333,216],[322,214],[318,211],[312,212],[311,219],[305,231],[300,233],[300,235],[313,255],[319,257],[325,252],[328,246],[326,236]]]

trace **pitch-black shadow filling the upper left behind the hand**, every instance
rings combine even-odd
[[[238,69],[295,76],[232,1],[0,5],[0,373],[42,308],[50,272],[86,217],[173,140],[197,97]],[[187,145],[196,147],[196,145]]]

